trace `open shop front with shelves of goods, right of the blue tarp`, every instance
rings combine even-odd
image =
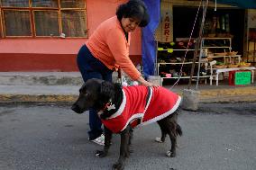
[[[187,84],[203,12],[199,11],[197,16],[197,6],[173,5],[171,10],[170,31],[173,31],[173,34],[170,40],[164,30],[169,25],[169,20],[166,19],[168,15],[167,12],[162,12],[163,22],[160,28],[162,35],[166,37],[163,36],[164,39],[158,41],[157,73],[166,83]],[[224,80],[230,70],[250,67],[244,62],[246,56],[243,56],[243,46],[246,45],[245,14],[244,9],[238,8],[218,8],[217,11],[213,7],[207,8],[201,44],[202,59],[200,63],[196,61],[196,72],[192,80],[197,80],[197,77],[202,83],[210,80],[210,85],[212,80],[215,80],[217,85],[218,80]],[[196,17],[197,22],[189,41]],[[224,72],[221,77],[218,71]]]

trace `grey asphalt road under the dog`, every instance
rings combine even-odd
[[[105,170],[119,154],[115,135],[108,157],[95,157],[97,146],[87,140],[88,115],[70,103],[0,105],[0,170]],[[156,123],[134,130],[133,155],[125,169],[255,170],[256,103],[211,103],[198,112],[182,112],[178,122],[177,157],[165,157]]]

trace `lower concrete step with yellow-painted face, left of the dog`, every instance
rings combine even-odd
[[[80,85],[0,85],[0,103],[74,103]]]

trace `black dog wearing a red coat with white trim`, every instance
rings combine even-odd
[[[161,138],[166,135],[171,140],[168,157],[176,156],[177,136],[182,130],[177,123],[180,97],[163,87],[144,85],[121,87],[100,79],[89,79],[80,88],[72,110],[78,113],[94,108],[105,125],[105,147],[97,151],[97,157],[105,157],[111,145],[112,133],[121,135],[120,156],[114,169],[123,169],[124,160],[129,157],[133,127],[157,121],[160,125]],[[125,115],[123,115],[125,113]],[[124,118],[127,118],[126,120]]]

